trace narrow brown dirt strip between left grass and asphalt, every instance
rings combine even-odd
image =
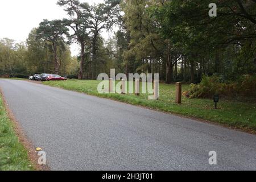
[[[28,140],[24,130],[20,127],[19,122],[16,121],[13,112],[9,109],[9,106],[5,100],[5,96],[3,95],[2,89],[0,88],[0,94],[2,95],[3,104],[5,105],[5,109],[7,111],[7,115],[10,118],[10,121],[14,125],[14,131],[18,136],[19,142],[23,144],[23,146],[28,151],[28,158],[30,159],[33,167],[38,171],[50,171],[50,168],[47,165],[39,165],[38,164],[38,152],[35,150],[35,146]]]

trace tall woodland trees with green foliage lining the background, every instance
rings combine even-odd
[[[208,14],[216,3],[217,16]],[[0,42],[2,73],[52,72],[96,79],[99,73],[159,73],[160,80],[236,80],[256,72],[254,0],[59,0],[69,18],[43,20],[26,43]],[[104,40],[102,31],[118,27]],[[69,44],[80,54],[72,57]]]

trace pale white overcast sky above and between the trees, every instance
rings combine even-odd
[[[81,2],[100,3],[104,0],[80,0]],[[34,27],[43,19],[67,18],[63,9],[56,5],[57,0],[2,0],[0,1],[0,39],[10,38],[25,41]],[[103,32],[105,39],[108,33]],[[72,55],[78,53],[77,46],[71,47]]]

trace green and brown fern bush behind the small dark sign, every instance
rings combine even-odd
[[[223,82],[221,76],[203,76],[200,84],[191,84],[190,98],[220,96],[256,97],[256,75],[242,75],[237,81]]]

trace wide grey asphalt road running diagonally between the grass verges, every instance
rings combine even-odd
[[[0,87],[52,170],[256,170],[255,135],[27,81]]]

